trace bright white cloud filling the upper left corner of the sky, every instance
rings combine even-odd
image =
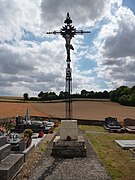
[[[40,1],[0,1],[0,41],[21,39],[25,31],[40,33]]]

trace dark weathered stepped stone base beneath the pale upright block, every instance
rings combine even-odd
[[[78,140],[61,140],[56,136],[53,141],[52,156],[55,157],[86,157],[86,146],[83,136],[78,136]]]

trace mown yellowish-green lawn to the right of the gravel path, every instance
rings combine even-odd
[[[135,158],[114,140],[135,140],[135,134],[109,133],[99,126],[81,126],[93,149],[114,180],[135,179]]]

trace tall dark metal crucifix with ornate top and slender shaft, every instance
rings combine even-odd
[[[66,52],[67,52],[67,67],[66,67],[66,118],[72,119],[72,100],[71,100],[71,93],[72,93],[72,69],[70,67],[70,50],[74,50],[71,39],[77,35],[77,34],[84,34],[84,33],[90,33],[90,31],[83,31],[83,30],[76,30],[76,28],[72,25],[72,20],[69,16],[69,13],[67,13],[67,17],[64,21],[65,26],[63,26],[60,31],[53,31],[53,32],[47,32],[47,34],[60,34],[65,39],[66,44]]]

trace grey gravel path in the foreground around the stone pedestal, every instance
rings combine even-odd
[[[51,142],[29,180],[110,180],[86,137],[85,140],[87,157],[72,159],[50,156]]]

